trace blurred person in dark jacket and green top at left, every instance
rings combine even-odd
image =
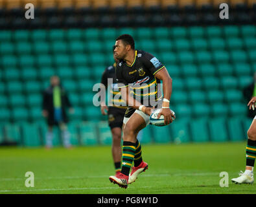
[[[53,133],[52,128],[57,125],[60,128],[64,147],[70,148],[70,134],[67,130],[67,114],[66,109],[69,108],[69,113],[74,113],[71,103],[67,96],[67,92],[60,84],[58,76],[51,76],[51,85],[43,91],[43,116],[47,119],[48,131],[46,133],[46,147],[52,147]]]

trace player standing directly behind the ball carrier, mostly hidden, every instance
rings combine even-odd
[[[115,47],[113,47],[114,51]],[[119,103],[124,103],[124,100],[121,99],[121,95],[119,96],[120,98],[115,98],[120,94],[120,92],[115,92],[118,90],[114,90],[115,87],[117,87],[117,80],[115,78],[115,68],[117,66],[117,58],[114,56],[113,52],[113,58],[115,60],[115,63],[113,65],[110,65],[105,69],[105,71],[102,74],[101,78],[101,83],[102,86],[104,85],[104,88],[101,88],[100,90],[106,91],[108,89],[108,79],[111,79],[112,84],[110,86],[110,94],[111,96],[109,97],[111,100],[110,102],[112,103],[111,106],[106,105],[106,100],[105,98],[102,98],[100,100],[100,111],[103,115],[106,115],[106,111],[108,111],[108,125],[110,126],[111,129],[111,134],[112,134],[112,157],[115,165],[115,175],[117,176],[119,173],[121,173],[121,158],[122,158],[122,149],[121,149],[121,135],[122,135],[122,120],[124,119],[124,113],[127,109],[127,106],[122,106]]]

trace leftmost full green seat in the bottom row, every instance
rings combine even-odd
[[[5,140],[21,144],[21,129],[18,124],[5,123]]]

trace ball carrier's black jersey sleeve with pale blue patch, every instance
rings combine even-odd
[[[143,56],[143,63],[153,75],[155,75],[158,71],[161,71],[165,67],[155,56],[148,52],[144,52]]]

